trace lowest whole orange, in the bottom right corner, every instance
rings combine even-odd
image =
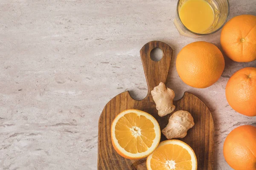
[[[223,153],[235,170],[256,170],[256,127],[243,125],[232,130],[225,139]]]

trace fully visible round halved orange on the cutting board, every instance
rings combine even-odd
[[[127,159],[141,159],[150,155],[157,148],[160,136],[157,120],[144,111],[122,111],[111,125],[113,147]]]

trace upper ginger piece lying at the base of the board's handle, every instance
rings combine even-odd
[[[157,105],[159,116],[166,116],[175,110],[175,105],[173,105],[175,93],[172,89],[166,88],[166,85],[163,82],[160,82],[158,86],[154,87],[151,94]]]

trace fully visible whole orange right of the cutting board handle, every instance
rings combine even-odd
[[[221,51],[209,42],[192,42],[181,49],[176,59],[177,72],[187,85],[207,88],[221,77],[225,67]]]

